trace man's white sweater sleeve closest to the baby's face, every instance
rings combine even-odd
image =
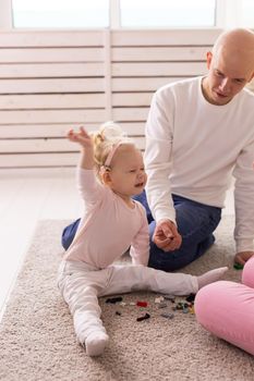
[[[167,94],[167,97],[169,95]],[[156,93],[147,123],[145,168],[148,175],[146,193],[154,219],[176,222],[169,175],[172,168],[173,99]]]

